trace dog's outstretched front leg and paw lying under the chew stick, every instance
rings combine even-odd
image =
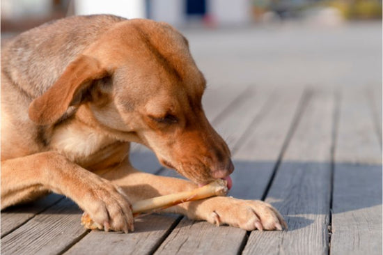
[[[127,169],[130,169],[127,171]],[[132,167],[119,167],[105,173],[104,178],[122,187],[131,201],[148,199],[175,192],[194,190],[197,185],[187,180],[154,176],[136,171]],[[234,199],[231,197],[212,197],[200,201],[181,203],[164,210],[186,215],[189,219],[206,220],[212,224],[228,224],[241,229],[281,230],[287,228],[279,212],[263,201]]]

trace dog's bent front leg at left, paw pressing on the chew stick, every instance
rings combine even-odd
[[[45,152],[1,162],[1,208],[48,190],[70,197],[104,229],[133,230],[123,191],[63,155]]]

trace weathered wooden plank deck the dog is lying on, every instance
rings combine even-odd
[[[52,194],[1,213],[1,254],[382,254],[382,92],[210,88],[205,111],[233,151],[231,196],[278,208],[288,231],[243,231],[179,215],[134,233],[88,231]],[[176,176],[134,147],[138,169]]]

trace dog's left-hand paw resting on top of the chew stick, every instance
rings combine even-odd
[[[86,212],[97,229],[105,231],[134,231],[132,206],[120,187],[100,178],[84,192],[79,206]],[[84,220],[81,219],[84,223]],[[90,228],[90,223],[84,224]],[[95,227],[90,228],[95,229]]]

